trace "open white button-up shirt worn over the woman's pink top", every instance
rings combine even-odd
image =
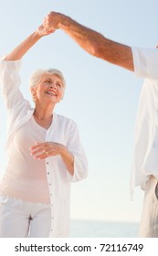
[[[34,112],[30,103],[24,99],[19,86],[18,70],[21,60],[0,62],[0,84],[8,112],[7,155],[11,156],[11,144],[16,131],[28,122]],[[70,182],[87,177],[88,163],[76,123],[53,112],[53,122],[47,130],[45,141],[53,141],[67,146],[74,155],[74,175],[71,176],[61,158],[49,156],[45,160],[47,186],[51,205],[51,228],[49,237],[68,237],[70,218]],[[39,160],[37,160],[39,161]]]

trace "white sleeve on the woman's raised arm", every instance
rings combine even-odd
[[[17,102],[23,100],[19,90],[21,79],[19,69],[21,59],[14,61],[0,61],[0,86],[7,109],[11,109]]]

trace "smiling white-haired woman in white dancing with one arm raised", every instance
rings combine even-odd
[[[0,64],[8,113],[8,163],[0,184],[0,237],[67,237],[70,182],[87,176],[87,158],[76,124],[54,112],[65,91],[57,69],[30,78],[35,108],[19,90],[21,59],[45,27],[17,46]]]

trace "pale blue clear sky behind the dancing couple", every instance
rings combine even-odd
[[[32,33],[51,10],[65,13],[105,37],[130,46],[158,44],[156,0],[0,0],[0,56]],[[37,68],[60,69],[67,80],[56,112],[79,126],[89,177],[73,184],[71,218],[139,221],[143,193],[130,197],[132,143],[142,79],[90,56],[63,31],[43,37],[23,60],[22,91],[31,101],[28,77]],[[0,101],[0,174],[5,169],[5,106]]]

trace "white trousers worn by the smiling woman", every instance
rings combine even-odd
[[[46,238],[50,205],[0,197],[0,238]]]

